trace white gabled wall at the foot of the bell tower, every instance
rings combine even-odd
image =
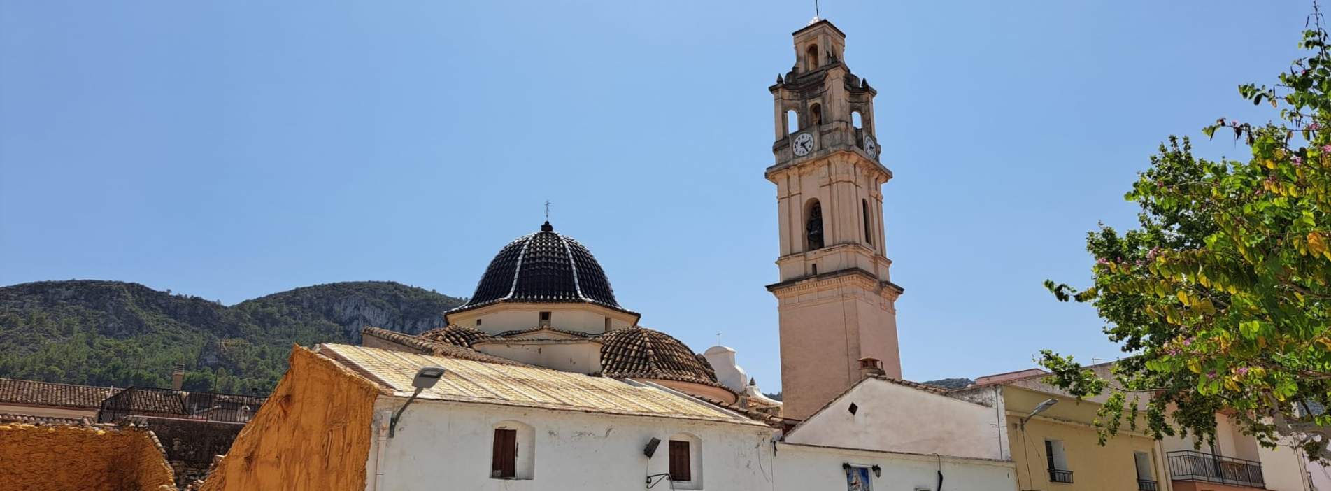
[[[855,414],[848,407],[857,406]],[[994,409],[866,379],[796,427],[787,440],[829,447],[1004,459]]]

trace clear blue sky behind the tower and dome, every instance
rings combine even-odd
[[[1308,1],[824,1],[878,89],[905,377],[1113,358],[1085,233],[1298,56]],[[812,1],[0,1],[0,283],[470,295],[536,230],[779,386],[772,101]],[[1229,140],[1209,157],[1243,156]]]

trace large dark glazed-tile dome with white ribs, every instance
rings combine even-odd
[[[555,233],[550,222],[500,249],[471,299],[453,311],[495,302],[588,302],[624,310],[591,251]]]

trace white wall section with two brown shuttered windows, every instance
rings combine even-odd
[[[377,402],[386,419],[402,399]],[[522,422],[535,428],[534,478],[491,479],[494,426]],[[763,426],[632,418],[495,405],[418,401],[403,414],[397,436],[382,452],[377,491],[407,490],[643,490],[648,474],[668,471],[668,439],[689,434],[701,442],[701,490],[771,490],[771,428]],[[662,440],[648,459],[643,446]],[[370,451],[369,490],[375,490]],[[519,458],[527,450],[519,447]],[[655,490],[669,490],[662,483]]]

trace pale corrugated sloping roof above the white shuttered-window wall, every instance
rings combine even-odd
[[[317,351],[398,397],[411,395],[411,379],[421,367],[441,366],[446,370],[443,378],[433,389],[422,391],[421,399],[760,426],[749,418],[689,397],[606,377],[365,346],[319,345]]]

